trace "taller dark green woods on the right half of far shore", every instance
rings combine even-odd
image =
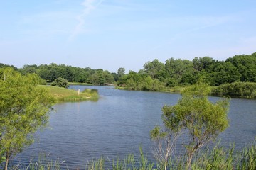
[[[134,72],[133,74],[136,74]],[[170,58],[165,63],[159,60],[146,62],[144,69],[137,74],[163,83],[164,87],[188,86],[196,83],[199,77],[206,77],[211,86],[231,84],[238,81],[256,82],[256,53],[252,55],[236,55],[226,61],[213,60],[211,57],[195,57],[192,61]],[[144,79],[121,77],[117,86],[124,89],[143,90]],[[147,89],[147,88],[146,88]],[[151,89],[149,89],[151,90]]]

